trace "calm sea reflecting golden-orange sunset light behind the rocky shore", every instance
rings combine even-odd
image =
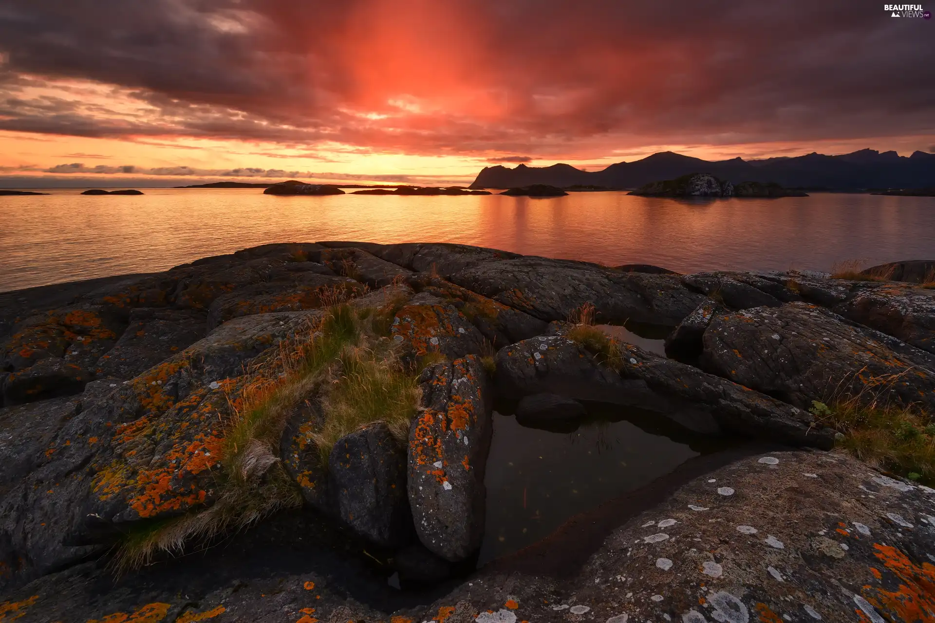
[[[148,189],[142,196],[0,197],[0,291],[165,270],[269,242],[459,242],[554,258],[711,269],[827,270],[935,256],[935,197],[814,194],[685,202],[567,197],[275,197]]]

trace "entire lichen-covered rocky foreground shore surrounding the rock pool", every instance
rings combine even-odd
[[[930,262],[325,241],[2,293],[0,621],[930,620]],[[475,568],[493,412],[595,404],[736,442]]]

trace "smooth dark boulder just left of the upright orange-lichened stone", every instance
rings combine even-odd
[[[401,545],[412,534],[406,495],[407,450],[377,422],[338,439],[328,458],[338,517],[377,545]]]

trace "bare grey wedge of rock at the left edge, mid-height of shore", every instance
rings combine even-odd
[[[73,397],[0,409],[0,496],[36,467],[55,434],[78,413]]]

